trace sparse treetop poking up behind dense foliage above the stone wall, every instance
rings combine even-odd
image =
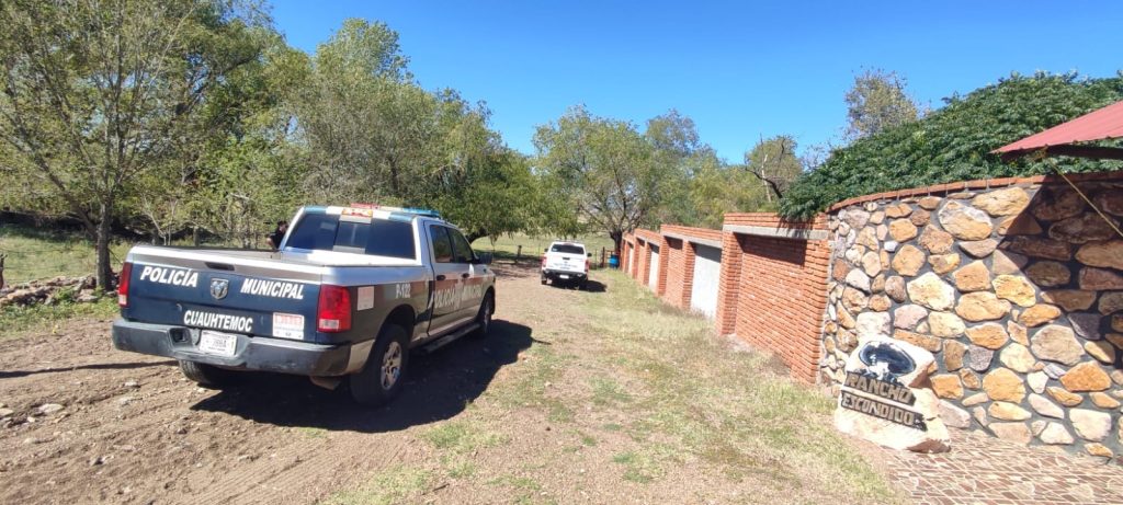
[[[896,72],[867,70],[855,76],[846,93],[847,136],[858,139],[915,121],[920,114],[905,93],[906,85]]]

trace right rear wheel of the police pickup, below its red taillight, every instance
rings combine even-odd
[[[402,389],[410,359],[410,339],[396,324],[386,324],[366,358],[366,365],[348,378],[351,398],[367,406],[385,405]]]

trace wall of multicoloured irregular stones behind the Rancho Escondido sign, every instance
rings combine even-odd
[[[832,208],[820,379],[864,337],[935,354],[944,422],[1123,454],[1123,174],[975,181]],[[1108,221],[1111,223],[1108,223]]]

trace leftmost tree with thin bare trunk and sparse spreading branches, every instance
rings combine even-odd
[[[121,199],[192,153],[206,97],[262,53],[258,6],[225,1],[10,0],[0,6],[0,141],[13,175],[97,241],[111,288]]]

